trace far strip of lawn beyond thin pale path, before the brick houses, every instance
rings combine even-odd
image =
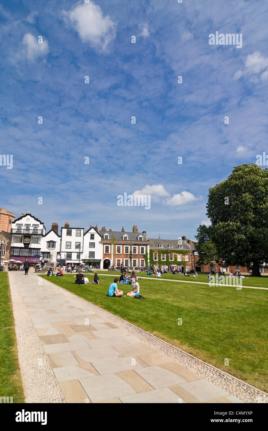
[[[101,271],[101,270],[96,270],[96,272],[98,272],[98,274],[113,274],[116,277],[120,277],[121,273],[120,271]],[[138,272],[135,271],[135,274],[137,275],[137,277],[148,277],[148,278],[156,278],[153,275],[147,275],[147,272]],[[131,275],[131,273],[128,274],[129,276]],[[192,275],[192,274],[190,274]],[[197,278],[193,278],[193,277],[184,277],[184,275],[173,275],[172,272],[168,272],[167,274],[163,274],[161,279],[171,279],[171,280],[183,280],[183,281],[192,281],[193,283],[195,281],[200,281],[202,283],[208,283],[209,280],[206,280],[206,278],[208,277],[208,274],[198,274]],[[214,276],[215,277],[215,276]],[[235,280],[235,279],[234,279]],[[241,279],[240,279],[241,281]],[[250,275],[248,275],[248,278],[242,278],[242,285],[244,286],[253,286],[253,287],[268,287],[268,274],[267,275],[262,275],[261,277],[251,277]]]

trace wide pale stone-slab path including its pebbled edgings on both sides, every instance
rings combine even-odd
[[[267,397],[33,273],[10,272],[9,283],[28,403],[242,403]]]

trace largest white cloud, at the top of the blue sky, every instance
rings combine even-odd
[[[116,22],[108,15],[103,16],[100,6],[90,0],[89,3],[78,5],[69,12],[63,11],[63,15],[77,31],[80,39],[92,47],[106,50],[116,36]]]

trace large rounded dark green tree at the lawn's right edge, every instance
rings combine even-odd
[[[260,275],[268,262],[268,169],[252,163],[235,166],[231,175],[209,189],[209,239],[226,265],[247,266]]]

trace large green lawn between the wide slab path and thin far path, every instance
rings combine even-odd
[[[262,390],[268,390],[268,291],[141,280],[145,300],[110,298],[112,277],[100,285],[76,285],[73,277],[49,281],[120,316]],[[88,274],[93,279],[93,274]],[[266,281],[266,280],[265,280]],[[126,294],[129,285],[120,284]],[[178,325],[178,319],[182,325]],[[229,366],[224,365],[225,359]]]

